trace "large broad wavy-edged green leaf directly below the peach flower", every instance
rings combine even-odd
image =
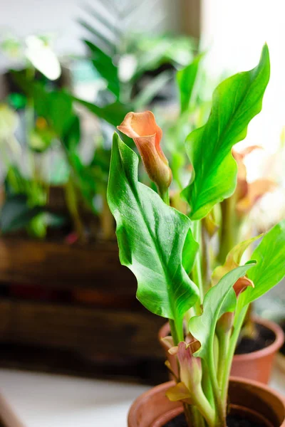
[[[138,280],[138,300],[148,310],[182,319],[195,304],[197,287],[182,267],[182,250],[192,240],[191,221],[138,181],[138,156],[115,133],[108,204],[117,223],[120,262]]]

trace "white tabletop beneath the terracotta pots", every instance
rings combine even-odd
[[[271,386],[285,394],[285,376]],[[0,369],[0,392],[24,427],[126,427],[147,386]]]

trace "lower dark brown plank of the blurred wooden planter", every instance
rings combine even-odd
[[[0,300],[0,341],[73,349],[87,357],[157,357],[165,322],[147,312]]]

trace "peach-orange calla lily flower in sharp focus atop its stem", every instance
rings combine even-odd
[[[155,122],[153,113],[128,112],[118,130],[133,139],[148,176],[155,182],[160,194],[165,194],[172,181],[172,172],[160,147],[162,130]]]

